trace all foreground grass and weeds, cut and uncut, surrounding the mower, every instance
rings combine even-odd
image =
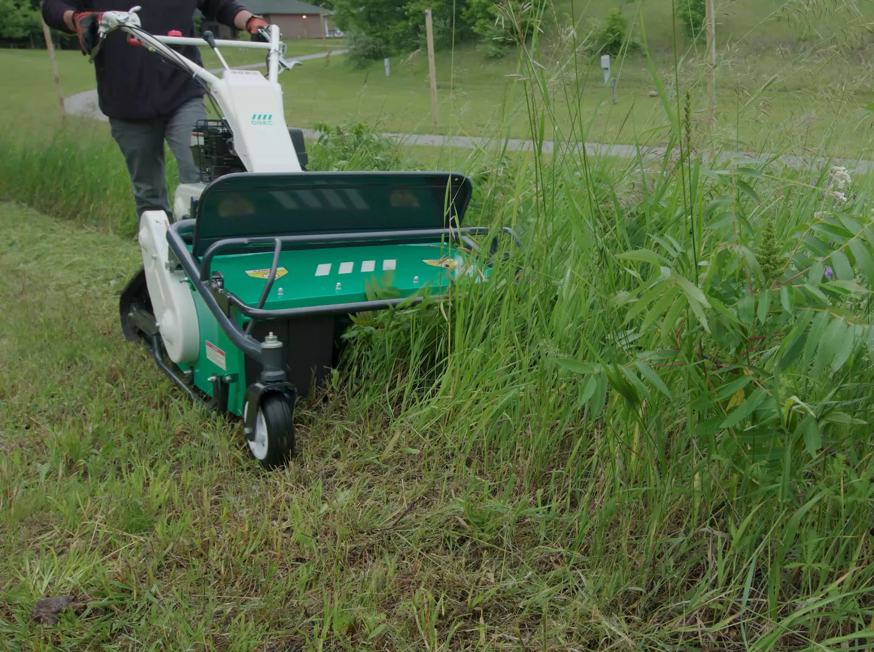
[[[7,649],[871,648],[871,177],[727,158],[654,69],[668,156],[591,156],[578,58],[517,45],[557,146],[453,167],[524,248],[360,316],[277,474],[121,342],[111,143],[0,163],[4,198],[103,231],[0,211]],[[315,158],[386,156],[361,143]],[[40,630],[45,593],[82,608]]]

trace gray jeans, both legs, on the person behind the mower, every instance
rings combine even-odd
[[[164,140],[176,157],[180,183],[196,184],[200,181],[200,172],[191,156],[191,129],[198,120],[205,119],[204,101],[199,97],[185,102],[169,118],[110,119],[113,138],[121,148],[125,163],[128,163],[130,180],[134,184],[137,217],[143,211],[170,211],[164,171]]]

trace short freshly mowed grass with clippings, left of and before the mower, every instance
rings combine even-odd
[[[459,475],[439,434],[359,411],[344,383],[299,406],[302,453],[288,470],[261,471],[238,422],[192,406],[123,341],[116,302],[139,265],[133,240],[21,205],[0,205],[0,227],[0,301],[15,307],[0,316],[3,649],[521,649],[626,636],[628,615],[614,612],[638,591],[615,567],[626,553],[590,565],[565,550],[572,514],[523,497],[512,476]],[[44,595],[78,606],[39,625]]]

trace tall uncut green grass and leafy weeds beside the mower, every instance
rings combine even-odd
[[[350,442],[354,472],[421,482],[415,545],[461,560],[463,581],[417,575],[399,632],[429,649],[526,635],[539,649],[871,649],[871,178],[843,203],[828,168],[711,163],[697,152],[723,143],[655,73],[678,156],[562,148],[591,140],[574,113],[579,43],[565,45],[556,68],[537,34],[520,45],[531,135],[558,146],[452,162],[477,183],[469,222],[513,227],[524,250],[506,243],[489,282],[452,302],[359,321],[329,405],[305,407],[313,433],[376,438]],[[113,148],[71,132],[16,146],[0,191],[131,232]],[[385,154],[365,139],[316,160]],[[467,634],[446,615],[480,581],[461,566],[493,583]],[[314,647],[330,637],[308,631]]]

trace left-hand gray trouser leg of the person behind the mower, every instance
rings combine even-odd
[[[128,164],[137,217],[143,211],[170,211],[164,177],[163,121],[111,119],[109,125]]]

